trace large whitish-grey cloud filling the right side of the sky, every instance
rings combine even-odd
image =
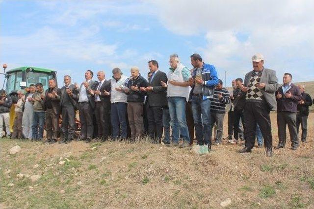
[[[296,79],[314,79],[313,73],[300,73],[302,59],[314,63],[312,0],[157,0],[154,4],[160,22],[173,33],[205,34],[207,45],[195,49],[216,65],[220,77],[225,70],[230,77],[243,76],[252,68],[252,55],[262,53],[265,66],[277,70],[278,77],[286,70]],[[243,32],[247,39],[238,39]]]

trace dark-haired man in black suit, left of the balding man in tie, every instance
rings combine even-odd
[[[85,81],[81,83],[79,88],[78,84],[75,85],[78,91],[78,110],[81,124],[81,137],[78,140],[86,140],[86,143],[92,140],[94,133],[93,110],[95,108],[95,101],[94,96],[89,91],[97,88],[97,82],[92,80],[93,75],[92,70],[87,70],[85,72]]]

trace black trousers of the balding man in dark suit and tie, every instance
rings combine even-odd
[[[98,138],[107,139],[110,134],[110,101],[95,103],[95,116],[97,121]]]

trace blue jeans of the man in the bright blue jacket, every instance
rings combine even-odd
[[[192,96],[192,113],[197,144],[211,145],[210,141],[210,99]]]

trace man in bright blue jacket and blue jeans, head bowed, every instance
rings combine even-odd
[[[210,141],[210,99],[214,95],[214,87],[218,85],[217,71],[213,65],[205,64],[199,54],[191,55],[194,80],[190,96],[192,97],[192,113],[195,124],[197,144],[208,145]],[[203,119],[203,122],[202,122]],[[203,127],[204,126],[204,127]]]

